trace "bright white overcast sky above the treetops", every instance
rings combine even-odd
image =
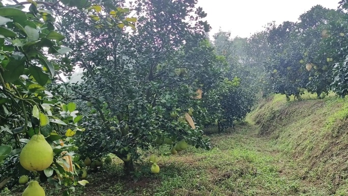
[[[336,9],[339,0],[198,0],[198,6],[208,14],[205,20],[212,26],[210,36],[230,31],[231,38],[249,37],[271,21],[297,21],[315,5]]]

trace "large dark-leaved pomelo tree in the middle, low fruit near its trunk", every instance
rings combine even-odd
[[[73,13],[61,23],[73,49],[68,58],[84,70],[80,84],[62,84],[69,89],[64,94],[82,100],[81,108],[92,106],[85,110],[86,131],[76,141],[79,153],[90,159],[113,153],[124,161],[127,174],[134,174],[139,149],[158,153],[164,139],[172,142],[162,154],[180,141],[210,148],[202,125],[190,126],[186,119],[212,120],[201,103],[209,101],[206,93],[223,80],[224,63],[206,39],[210,26],[202,21],[206,14],[195,8],[196,2],[132,5],[104,10],[111,21],[128,21],[129,29],[103,28]],[[201,99],[196,98],[198,89]]]

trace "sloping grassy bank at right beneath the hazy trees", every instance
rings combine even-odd
[[[348,195],[348,99],[302,97],[287,102],[284,95],[271,96],[249,118],[260,126],[259,135],[294,160],[300,179],[328,194]]]

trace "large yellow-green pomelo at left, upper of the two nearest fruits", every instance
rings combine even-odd
[[[33,135],[19,155],[19,162],[28,171],[43,171],[53,162],[53,150],[43,135]]]

